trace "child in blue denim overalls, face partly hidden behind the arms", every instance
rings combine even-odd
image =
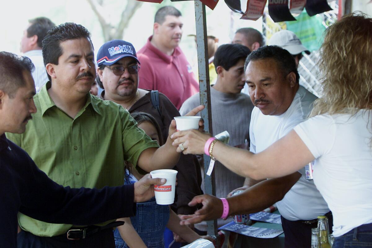
[[[137,121],[138,127],[142,128],[151,139],[163,144],[160,128],[153,116],[134,112],[131,116]],[[127,165],[125,184],[138,181],[142,175],[131,165]],[[186,242],[193,242],[201,237],[188,226],[181,226],[180,218],[167,205],[158,205],[155,198],[147,202],[137,203],[136,216],[122,218],[125,224],[114,231],[116,248],[164,248],[164,230],[169,228]]]

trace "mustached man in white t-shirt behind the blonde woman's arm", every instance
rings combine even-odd
[[[299,86],[294,58],[279,46],[265,46],[252,52],[245,68],[255,106],[250,123],[250,151],[258,153],[306,120],[317,97]],[[245,184],[255,183],[247,178]],[[314,182],[306,179],[304,168],[282,178],[264,180],[257,186],[254,190],[265,191],[266,197],[252,203],[254,207],[279,200],[286,248],[311,246],[311,228],[317,227],[318,215],[327,214],[332,226],[327,203]]]

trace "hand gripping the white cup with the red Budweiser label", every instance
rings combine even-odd
[[[134,183],[134,202],[145,202],[155,196],[154,184],[163,185],[167,180],[164,178],[151,178],[150,174],[144,175]]]

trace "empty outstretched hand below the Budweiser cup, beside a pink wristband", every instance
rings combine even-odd
[[[214,220],[218,219],[222,215],[223,205],[221,199],[211,196],[209,194],[203,194],[201,196],[195,196],[189,206],[195,206],[196,204],[202,204],[203,207],[196,210],[193,215],[181,215],[180,225],[189,225],[200,223],[203,220]]]

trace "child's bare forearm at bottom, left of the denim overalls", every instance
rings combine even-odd
[[[118,226],[118,230],[121,238],[130,248],[146,248],[145,243],[141,239],[140,235],[134,229],[130,218],[118,219],[124,221],[124,225]]]

